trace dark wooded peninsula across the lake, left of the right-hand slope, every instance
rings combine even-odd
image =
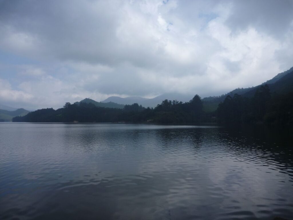
[[[13,122],[153,122],[197,123],[207,121],[202,111],[202,99],[195,95],[189,102],[164,100],[153,108],[144,108],[137,103],[123,109],[104,108],[92,103],[70,104],[54,110],[40,109],[25,116],[13,118]]]

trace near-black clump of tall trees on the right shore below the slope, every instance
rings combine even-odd
[[[252,98],[227,96],[217,109],[220,123],[293,124],[293,93],[271,94],[269,86],[256,89]]]

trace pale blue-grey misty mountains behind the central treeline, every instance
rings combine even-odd
[[[183,95],[178,93],[166,93],[159,95],[157,97],[148,99],[148,98],[142,98],[142,97],[126,97],[121,98],[118,96],[111,96],[107,99],[105,99],[102,102],[115,102],[118,104],[124,104],[124,105],[132,105],[134,103],[137,103],[139,105],[142,105],[143,107],[156,107],[158,104],[161,104],[163,100],[177,100],[182,102],[188,102],[193,98],[193,95]]]

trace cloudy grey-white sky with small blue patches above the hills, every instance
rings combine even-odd
[[[292,58],[292,0],[0,0],[0,104],[13,107],[220,95]]]

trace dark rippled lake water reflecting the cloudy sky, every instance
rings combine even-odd
[[[291,142],[247,132],[0,123],[0,219],[293,219]]]

